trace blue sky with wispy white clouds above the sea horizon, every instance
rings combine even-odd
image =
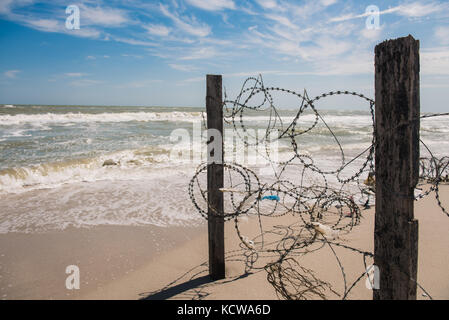
[[[66,28],[69,5],[79,30]],[[448,1],[0,0],[0,103],[203,106],[209,73],[230,97],[258,73],[309,96],[373,97],[374,46],[408,34],[421,45],[421,109],[448,111]]]

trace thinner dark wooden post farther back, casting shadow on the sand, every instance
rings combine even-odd
[[[209,232],[209,274],[213,280],[225,277],[223,214],[223,105],[221,75],[207,75],[207,197]],[[212,146],[212,148],[211,148]],[[217,153],[218,152],[218,153]]]

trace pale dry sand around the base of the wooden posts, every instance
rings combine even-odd
[[[449,188],[445,187],[444,199],[449,199]],[[374,207],[362,211],[363,218],[359,226],[347,236],[342,236],[342,243],[362,250],[373,251],[374,246]],[[415,218],[420,225],[418,283],[430,293],[433,299],[449,299],[449,275],[446,272],[449,263],[449,229],[448,217],[438,210],[434,197],[428,197],[416,203]],[[294,218],[293,218],[294,219]],[[292,218],[285,219],[291,222]],[[279,224],[274,219],[271,226]],[[256,223],[251,221],[241,225],[242,233],[255,231]],[[208,279],[207,267],[207,231],[180,247],[174,248],[159,257],[159,260],[148,263],[120,280],[93,291],[82,299],[234,299],[258,300],[278,299],[274,288],[267,281],[267,273],[245,274],[245,264],[240,240],[234,224],[225,224],[226,278],[216,282]],[[237,251],[234,251],[237,250]],[[334,246],[339,259],[344,265],[348,280],[354,281],[364,271],[362,257],[348,250]],[[262,263],[263,264],[263,263]],[[301,258],[301,264],[314,270],[318,277],[332,284],[333,289],[342,292],[344,284],[341,270],[335,263],[335,257],[328,249],[320,249],[314,254]],[[148,278],[157,273],[158,277]],[[348,281],[349,283],[351,281]],[[329,299],[341,299],[329,296]],[[372,299],[372,291],[365,286],[362,279],[351,291],[348,299]],[[428,297],[418,287],[418,300]]]

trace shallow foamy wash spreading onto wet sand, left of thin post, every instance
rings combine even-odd
[[[0,233],[48,232],[67,227],[192,226],[203,219],[189,201],[188,175],[70,184],[22,195],[3,195]]]

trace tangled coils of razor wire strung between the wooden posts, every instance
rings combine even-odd
[[[274,104],[273,92],[288,94],[298,99],[299,108],[293,121],[284,123]],[[261,101],[252,104],[252,100],[259,95],[262,95]],[[319,100],[335,95],[358,97],[369,104],[372,121],[371,143],[368,148],[351,159],[345,155],[337,135],[314,105]],[[244,251],[246,272],[265,270],[267,280],[279,298],[326,299],[328,295],[336,295],[346,299],[359,281],[369,277],[366,271],[369,270],[367,259],[372,260],[374,257],[371,252],[365,252],[338,241],[339,234],[349,233],[360,223],[362,209],[369,208],[370,199],[375,196],[374,101],[363,94],[352,91],[331,91],[309,99],[305,90],[300,94],[283,88],[265,87],[262,76],[259,76],[246,79],[236,99],[227,100],[225,94],[223,108],[225,111],[224,121],[233,127],[244,146],[246,148],[264,146],[264,152],[258,151],[258,155],[277,170],[273,170],[273,175],[264,182],[254,170],[248,167],[238,163],[224,163],[226,188],[223,188],[222,191],[226,206],[224,212],[217,212],[209,206],[207,201],[207,163],[204,163],[198,167],[189,183],[188,192],[193,205],[205,219],[208,219],[208,215],[216,215],[227,221],[234,221],[236,233],[241,241],[241,249]],[[245,136],[251,135],[245,125],[245,115],[248,112],[257,111],[269,114],[268,124],[264,128],[262,137],[258,139],[252,137],[252,142],[249,142],[245,139]],[[299,125],[304,125],[302,116],[306,111],[314,116],[314,121],[308,127],[300,129]],[[423,115],[421,118],[447,115],[449,113]],[[298,137],[311,132],[318,127],[318,124],[328,130],[339,150],[342,162],[335,170],[320,168],[313,157],[300,151]],[[276,138],[272,138],[273,131],[281,133]],[[272,158],[268,145],[276,139],[289,142],[292,151],[291,158],[285,161]],[[422,190],[421,186],[424,185],[430,187],[417,195],[415,200],[435,192],[438,206],[449,216],[439,195],[440,184],[449,182],[449,157],[438,159],[433,156],[424,142],[421,141],[421,143],[429,152],[430,157],[420,159],[420,183],[417,189]],[[361,164],[349,177],[344,177],[343,171],[356,161],[361,161]],[[283,178],[287,169],[297,170],[301,181],[293,183]],[[316,182],[310,183],[303,179],[310,174],[316,177],[314,180]],[[361,179],[364,174],[368,176],[366,180]],[[339,185],[330,184],[329,177],[333,177]],[[351,190],[357,191],[345,191],[349,185],[353,187]],[[271,201],[266,200],[267,197]],[[356,203],[356,197],[358,197],[358,203]],[[259,221],[260,234],[253,239],[248,239],[240,230],[240,222],[250,215],[256,216]],[[297,222],[288,226],[276,225],[270,230],[263,228],[263,218],[276,218],[285,215],[297,217]],[[335,235],[337,236],[335,237]],[[275,240],[266,240],[273,237]],[[317,278],[312,270],[298,262],[298,259],[300,260],[306,254],[316,252],[326,246],[335,256],[342,274],[344,292],[341,294],[334,291],[329,283]],[[348,281],[335,248],[349,250],[362,257],[365,269],[352,283]],[[369,279],[372,280],[372,278]],[[412,280],[416,282],[416,280]],[[427,297],[431,298],[424,288],[418,283],[417,285]]]

